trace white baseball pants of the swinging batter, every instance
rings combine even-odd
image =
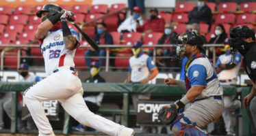
[[[61,69],[27,89],[23,99],[39,130],[39,136],[53,135],[53,129],[40,101],[57,99],[62,107],[83,125],[90,126],[107,135],[118,136],[120,124],[116,124],[90,112],[82,94],[81,80],[69,68]]]

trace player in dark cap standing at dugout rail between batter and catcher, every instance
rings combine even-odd
[[[143,53],[142,42],[136,41],[132,48],[133,56],[129,59],[129,73],[125,83],[148,84],[159,73],[152,58]],[[137,109],[138,101],[141,99],[150,99],[150,94],[131,95],[134,109]],[[147,131],[141,127],[142,131]]]

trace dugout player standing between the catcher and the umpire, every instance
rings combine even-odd
[[[225,54],[220,55],[216,63],[216,72],[218,73],[221,85],[236,84],[237,82],[242,56],[240,53],[237,53],[233,65],[229,65],[231,59],[231,48],[229,44],[226,44]],[[235,95],[225,95],[224,105],[225,109],[222,112],[222,117],[225,122],[227,135],[235,135],[235,117],[231,113],[235,112],[235,109],[240,109],[241,102],[235,99]]]

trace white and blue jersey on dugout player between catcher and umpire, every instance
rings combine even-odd
[[[231,62],[231,54],[222,54],[218,57],[218,61],[216,63],[216,67],[220,64],[228,64]],[[242,56],[240,53],[237,53],[235,55],[235,60],[234,62],[237,64],[235,67],[232,69],[224,69],[218,73],[218,79],[219,80],[233,80],[238,78],[238,71],[241,66],[242,62]]]

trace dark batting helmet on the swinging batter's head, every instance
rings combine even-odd
[[[36,12],[36,16],[38,16],[39,18],[41,18],[42,16],[42,12],[49,12],[49,14],[51,14],[51,16],[60,13],[62,11],[62,7],[60,7],[59,5],[56,4],[45,4],[42,7],[42,10]]]

